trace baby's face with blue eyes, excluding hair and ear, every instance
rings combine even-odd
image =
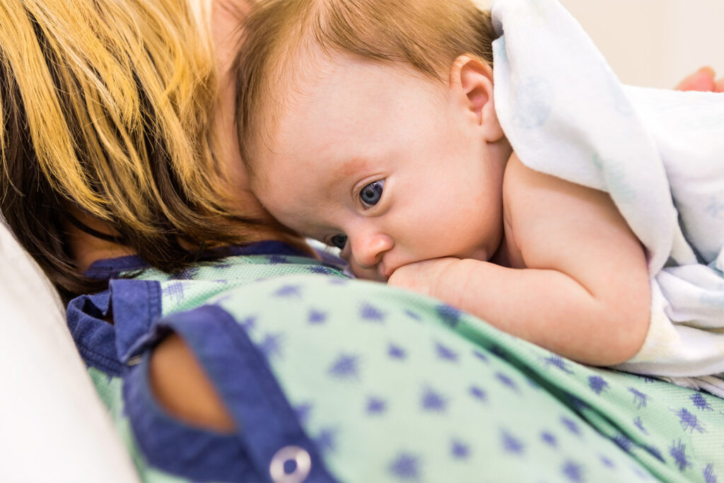
[[[378,280],[426,259],[489,259],[505,162],[476,117],[413,70],[334,60],[285,93],[295,98],[252,180],[266,209]]]

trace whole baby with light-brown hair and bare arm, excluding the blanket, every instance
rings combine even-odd
[[[465,0],[269,0],[246,25],[237,122],[279,222],[358,276],[432,295],[585,364],[636,355],[647,253],[612,198],[526,167]]]

